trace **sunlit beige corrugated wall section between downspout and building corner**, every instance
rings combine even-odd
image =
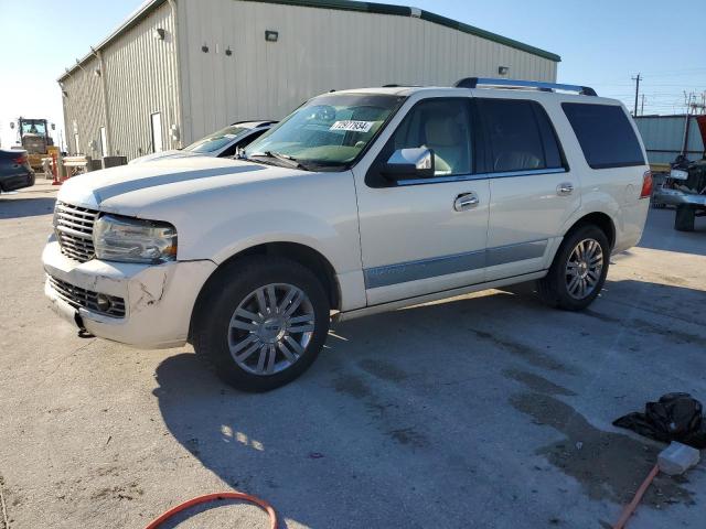
[[[163,41],[154,30],[165,30]],[[161,112],[164,149],[175,149],[170,127],[180,127],[176,104],[174,17],[163,3],[103,51],[106,68],[110,151],[132,159],[152,152],[150,115]]]

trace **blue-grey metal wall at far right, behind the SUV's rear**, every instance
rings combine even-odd
[[[635,119],[650,163],[670,163],[682,152],[686,116],[639,116]],[[686,158],[698,160],[704,152],[698,123],[692,116]]]

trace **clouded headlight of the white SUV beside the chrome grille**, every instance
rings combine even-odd
[[[169,223],[104,215],[94,225],[98,259],[125,262],[164,262],[176,259],[176,229]]]

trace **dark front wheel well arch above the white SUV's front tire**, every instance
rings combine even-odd
[[[218,276],[220,272],[225,270],[226,267],[231,266],[233,262],[238,259],[243,259],[248,256],[277,256],[277,257],[286,257],[287,259],[291,259],[292,261],[297,261],[298,263],[307,267],[311,270],[314,276],[321,281],[323,289],[325,290],[329,296],[329,303],[331,304],[331,309],[339,310],[340,309],[340,300],[341,293],[339,283],[335,279],[335,270],[333,266],[329,262],[329,260],[319,253],[313,248],[310,248],[304,245],[300,245],[297,242],[266,242],[264,245],[253,246],[243,250],[234,256],[231,256],[224,262],[222,262],[218,268],[211,274],[211,277],[206,280],[205,284],[201,289],[199,296],[196,298],[196,302],[194,303],[194,309],[191,316],[191,323],[193,324],[195,314],[199,313],[199,307],[202,302],[202,298],[204,293],[207,291],[211,281]],[[191,328],[189,330],[189,337],[191,338]]]

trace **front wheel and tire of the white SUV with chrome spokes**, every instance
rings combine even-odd
[[[329,301],[296,261],[246,257],[206,287],[194,321],[196,354],[244,391],[268,391],[304,373],[329,332]]]

